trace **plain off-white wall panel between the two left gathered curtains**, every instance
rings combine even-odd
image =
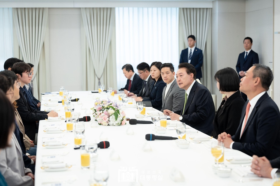
[[[51,91],[81,91],[81,8],[49,8],[49,36]]]

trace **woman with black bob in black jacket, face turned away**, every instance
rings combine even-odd
[[[233,136],[239,126],[241,112],[245,101],[239,91],[239,77],[237,72],[230,67],[218,70],[214,77],[217,88],[221,94],[225,94],[220,107],[213,120],[214,130],[212,136],[226,132]]]

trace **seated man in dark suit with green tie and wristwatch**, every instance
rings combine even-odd
[[[209,90],[195,80],[195,67],[189,63],[181,63],[176,73],[177,84],[185,89],[185,102],[181,114],[164,110],[171,120],[179,120],[186,125],[210,135],[213,131],[215,106]]]

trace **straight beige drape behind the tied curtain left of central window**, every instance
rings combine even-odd
[[[81,38],[82,38],[82,90],[98,90],[98,78],[95,74],[95,69],[92,62],[92,56],[90,48],[85,35],[85,29],[83,21],[81,21]],[[108,48],[108,54],[106,57],[106,63],[103,75],[100,79],[102,84],[105,84],[105,88],[112,87],[117,89],[117,72],[116,72],[116,35],[115,35],[115,23],[113,24],[113,31],[111,37],[111,43]]]

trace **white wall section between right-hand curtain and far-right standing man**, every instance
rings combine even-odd
[[[236,69],[238,55],[243,52],[245,36],[245,1],[213,1],[212,9],[212,67],[211,74],[225,67]],[[212,94],[219,106],[222,95],[212,81]]]

